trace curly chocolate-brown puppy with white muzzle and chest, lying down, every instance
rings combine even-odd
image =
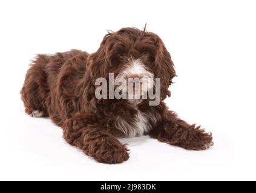
[[[96,79],[160,78],[160,104],[149,99],[97,99]],[[128,150],[117,138],[149,134],[170,145],[205,150],[212,136],[180,119],[163,100],[176,76],[171,55],[159,36],[136,28],[108,33],[93,54],[72,50],[38,55],[21,90],[25,112],[48,117],[64,130],[65,140],[103,163],[121,163]],[[144,90],[145,91],[145,90]]]

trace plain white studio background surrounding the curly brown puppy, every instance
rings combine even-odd
[[[0,1],[0,180],[256,180],[255,1]],[[162,37],[178,77],[166,100],[211,131],[206,151],[123,139],[130,159],[97,163],[68,145],[50,119],[24,113],[30,59],[71,48],[94,52],[106,30]]]

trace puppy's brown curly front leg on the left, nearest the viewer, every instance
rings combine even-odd
[[[64,138],[98,162],[122,163],[129,159],[125,145],[91,116],[79,115],[68,119],[64,126]]]

